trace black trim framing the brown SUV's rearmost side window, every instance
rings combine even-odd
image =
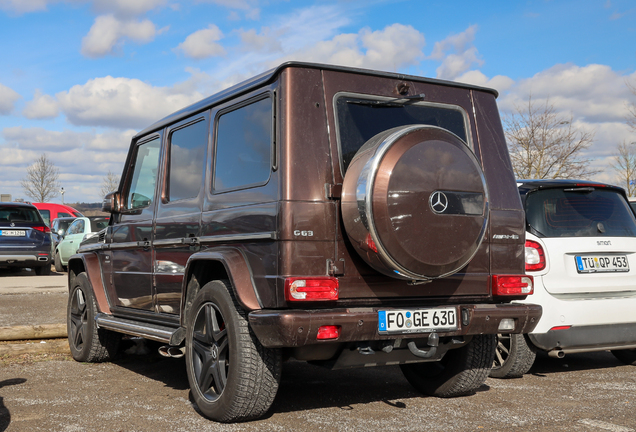
[[[236,111],[239,110],[245,106],[251,105],[253,103],[259,102],[261,100],[264,99],[270,99],[271,102],[271,106],[272,106],[272,118],[271,118],[271,142],[270,142],[270,172],[269,172],[269,176],[267,177],[267,180],[263,181],[263,182],[259,182],[259,183],[250,183],[250,184],[246,184],[246,185],[241,185],[241,186],[237,186],[237,187],[233,187],[233,188],[227,188],[227,189],[216,189],[214,182],[216,180],[216,151],[217,151],[217,145],[218,145],[218,132],[219,132],[219,119],[221,118],[221,116],[223,116],[224,114],[228,114],[232,111]],[[276,91],[273,88],[270,88],[266,91],[260,91],[258,94],[255,94],[253,96],[248,97],[247,99],[244,99],[240,102],[238,102],[237,104],[228,106],[226,108],[223,108],[221,110],[219,110],[216,115],[214,116],[214,129],[213,129],[213,148],[212,148],[212,167],[211,167],[211,178],[210,178],[210,193],[212,195],[220,195],[220,194],[224,194],[224,193],[228,193],[228,192],[235,192],[235,191],[239,191],[239,190],[245,190],[245,189],[254,189],[257,187],[261,187],[261,186],[265,186],[266,184],[269,183],[270,179],[272,178],[272,172],[276,171],[277,169],[277,164],[276,164]]]

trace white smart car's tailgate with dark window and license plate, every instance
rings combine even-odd
[[[548,292],[561,295],[636,289],[636,219],[619,190],[554,188],[528,194],[531,233],[546,246]]]

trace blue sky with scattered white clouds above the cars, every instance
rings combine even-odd
[[[549,99],[594,131],[597,180],[636,141],[633,0],[0,0],[0,44],[0,192],[14,198],[46,152],[66,202],[100,201],[135,131],[286,60],[490,86],[503,114]]]

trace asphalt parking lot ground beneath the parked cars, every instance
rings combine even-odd
[[[0,272],[2,325],[64,319],[62,280]],[[523,378],[489,378],[455,399],[420,395],[397,367],[328,371],[288,362],[265,418],[219,425],[190,402],[183,359],[154,348],[130,342],[103,364],[64,353],[0,357],[0,432],[636,431],[636,368],[609,352],[539,355]]]

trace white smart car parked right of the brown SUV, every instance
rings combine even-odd
[[[611,350],[636,364],[636,218],[622,188],[577,180],[519,180],[526,273],[543,315],[532,333],[500,335],[496,378],[519,377],[537,350]]]

